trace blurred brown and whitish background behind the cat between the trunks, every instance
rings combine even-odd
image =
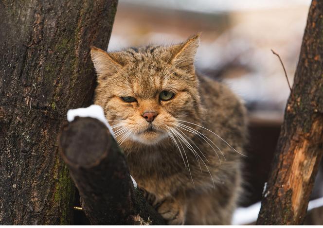
[[[108,51],[173,44],[202,32],[197,71],[245,102],[250,143],[241,207],[261,200],[292,85],[310,0],[119,0]],[[320,177],[312,198],[321,197]],[[319,222],[311,221],[310,224]],[[321,223],[322,224],[322,223]]]

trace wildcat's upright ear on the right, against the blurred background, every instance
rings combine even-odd
[[[194,59],[199,45],[199,33],[185,42],[170,47],[173,54],[171,63],[183,70],[194,71]]]

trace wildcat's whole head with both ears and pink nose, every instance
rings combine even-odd
[[[199,117],[194,55],[198,35],[171,47],[148,46],[106,53],[92,48],[98,74],[95,104],[122,144],[151,145],[170,136],[178,120]]]

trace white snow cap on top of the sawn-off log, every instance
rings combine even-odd
[[[91,117],[91,118],[95,118],[95,119],[101,121],[102,123],[104,123],[108,127],[111,135],[114,138],[112,128],[108,124],[108,121],[104,115],[103,108],[100,105],[90,105],[89,107],[81,107],[81,108],[76,108],[76,109],[70,109],[67,111],[67,121],[68,122],[72,122],[76,116]]]

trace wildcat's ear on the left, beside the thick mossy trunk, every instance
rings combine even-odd
[[[107,53],[96,47],[91,47],[91,59],[99,80],[115,74],[123,67],[123,62],[117,57],[117,53]]]

